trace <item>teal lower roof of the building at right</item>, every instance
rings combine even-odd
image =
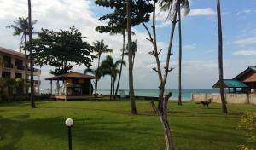
[[[219,88],[219,81],[212,86],[213,88]],[[241,81],[235,79],[224,79],[224,88],[247,88],[246,84],[243,84]]]

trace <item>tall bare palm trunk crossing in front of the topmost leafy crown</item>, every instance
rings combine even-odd
[[[132,52],[131,52],[131,0],[126,0],[127,10],[127,33],[128,33],[128,60],[129,60],[129,94],[131,101],[131,113],[137,114],[136,103],[134,99],[133,89],[133,73],[132,73]]]

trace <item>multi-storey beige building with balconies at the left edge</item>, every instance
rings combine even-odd
[[[27,81],[29,81],[31,75],[30,63],[24,54],[16,52],[15,50],[5,49],[0,47],[0,78],[22,78],[25,81],[26,71],[25,64],[27,65]],[[39,94],[40,91],[40,75],[41,70],[34,68],[34,86],[35,94]],[[29,89],[30,90],[30,89]],[[24,86],[24,93],[26,88]]]

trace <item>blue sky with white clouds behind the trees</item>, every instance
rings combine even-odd
[[[218,28],[215,0],[191,0],[191,11],[183,17],[183,89],[211,89],[218,79]],[[223,0],[221,1],[223,36],[224,36],[224,78],[233,78],[247,66],[256,66],[256,1]],[[59,30],[76,26],[88,37],[87,41],[104,39],[114,49],[113,58],[119,59],[122,47],[121,36],[110,36],[95,32],[95,27],[104,23],[97,18],[109,9],[98,7],[90,0],[37,0],[32,1],[32,19],[38,20],[35,30],[41,27]],[[19,16],[26,16],[26,0],[0,0],[0,46],[19,48],[20,38],[12,36],[5,26]],[[166,13],[157,15],[157,35],[162,63],[166,58],[166,45],[170,35],[170,22]],[[149,22],[150,24],[150,22]],[[149,26],[148,24],[148,26]],[[136,26],[134,39],[138,42],[136,65],[134,68],[135,89],[157,89],[158,80],[155,72],[154,58],[148,55],[151,44],[143,26]],[[172,52],[172,67],[175,68],[168,78],[166,89],[177,89],[177,32]],[[84,66],[75,66],[75,72],[83,72]],[[42,67],[42,88],[49,88],[50,66]],[[128,72],[125,68],[121,78],[121,89],[128,89]],[[100,89],[109,88],[109,77],[102,78]]]

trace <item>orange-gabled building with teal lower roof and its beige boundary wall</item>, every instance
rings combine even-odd
[[[219,81],[212,88],[219,88]],[[249,66],[235,78],[224,79],[225,99],[227,103],[256,104],[256,66]],[[192,93],[193,101],[221,102],[219,93]]]

